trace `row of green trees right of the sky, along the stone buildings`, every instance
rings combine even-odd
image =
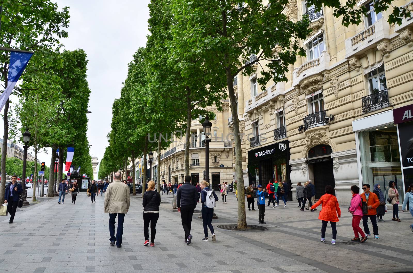
[[[343,1],[342,1],[343,2]],[[295,4],[294,4],[295,3]],[[360,24],[364,7],[356,0],[309,0],[307,5],[331,7],[342,24]],[[375,2],[377,12],[392,7],[390,23],[410,16],[392,0]],[[109,147],[101,161],[100,176],[126,165],[127,158],[169,145],[159,133],[185,129],[185,174],[189,174],[188,149],[192,117],[208,113],[204,109],[229,96],[235,143],[235,179],[238,194],[244,195],[240,121],[233,78],[255,73],[254,65],[264,66],[258,77],[263,89],[269,80],[285,81],[297,56],[305,56],[301,40],[311,33],[309,18],[297,21],[297,2],[289,0],[152,0],[147,45],[135,53],[121,97],[115,100]],[[294,16],[295,14],[295,16]],[[273,52],[278,45],[277,52]],[[256,55],[255,61],[249,61]],[[156,139],[155,142],[149,142]],[[158,137],[156,137],[158,136]],[[125,162],[125,163],[122,163]],[[158,157],[158,166],[160,159]],[[122,165],[123,164],[123,165]],[[158,168],[158,177],[160,177]],[[144,181],[146,172],[143,172]],[[145,183],[144,183],[145,184]],[[159,189],[158,189],[159,190]],[[238,227],[246,228],[244,198],[238,198]]]

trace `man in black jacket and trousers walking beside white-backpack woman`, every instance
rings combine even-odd
[[[185,176],[185,183],[178,188],[176,194],[176,205],[181,213],[182,227],[185,231],[185,242],[187,245],[191,243],[191,223],[192,214],[198,202],[198,192],[195,186],[191,185],[191,177]]]

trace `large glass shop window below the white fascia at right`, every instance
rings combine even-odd
[[[399,141],[396,126],[359,132],[362,183],[373,187],[380,184],[387,198],[389,181],[395,181],[401,202],[404,199],[403,179],[401,175]]]

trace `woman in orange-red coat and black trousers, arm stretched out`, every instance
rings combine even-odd
[[[338,222],[338,219],[341,217],[341,211],[338,206],[337,198],[333,195],[333,191],[334,189],[332,186],[325,186],[325,195],[321,196],[318,202],[311,206],[311,209],[315,209],[320,204],[323,204],[320,214],[318,215],[318,219],[323,221],[323,226],[321,226],[321,242],[325,241],[325,229],[330,221],[331,229],[333,231],[333,239],[331,240],[331,243],[335,245],[335,239],[337,237],[335,223]]]

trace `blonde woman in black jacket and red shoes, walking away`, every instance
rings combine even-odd
[[[145,234],[145,243],[149,245],[149,224],[151,224],[151,247],[154,247],[156,223],[159,219],[159,205],[161,205],[161,195],[155,191],[155,182],[149,181],[148,188],[143,194],[143,233]]]

